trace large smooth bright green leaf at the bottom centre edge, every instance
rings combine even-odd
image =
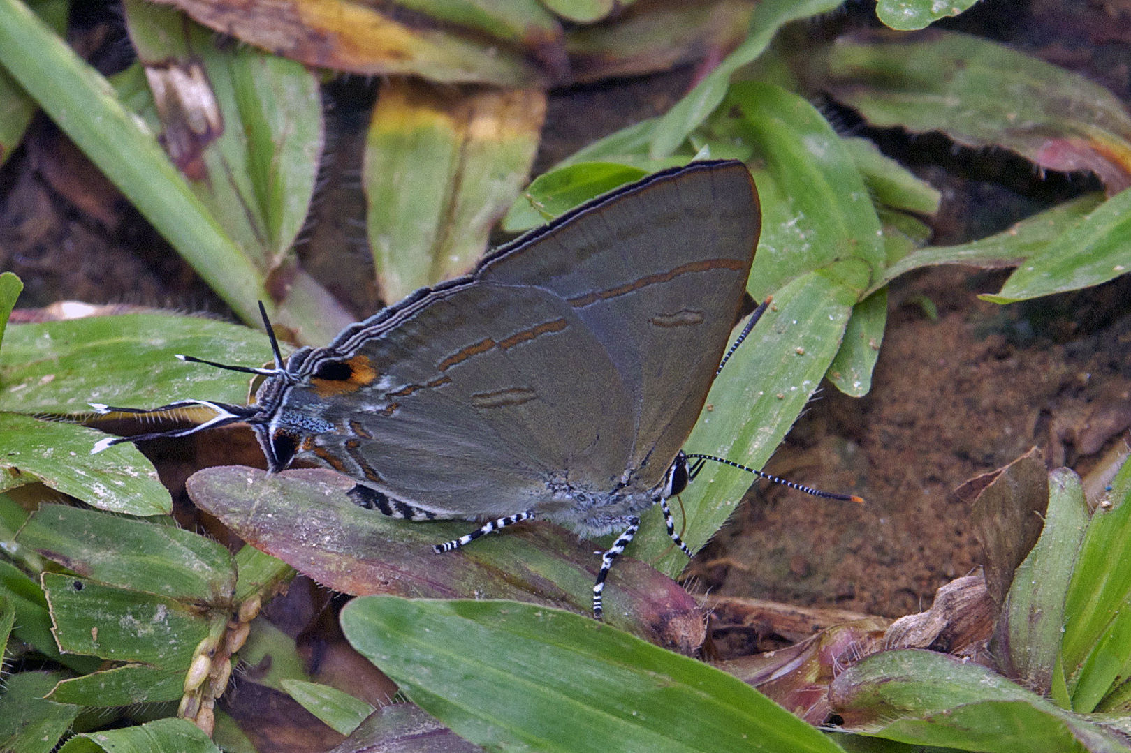
[[[340,620],[353,647],[414,702],[481,745],[839,750],[741,681],[575,614],[373,596],[346,605]]]

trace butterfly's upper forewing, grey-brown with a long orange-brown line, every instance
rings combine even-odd
[[[741,163],[692,163],[559,223],[501,248],[478,276],[552,291],[602,341],[631,390],[628,467],[651,488],[729,339],[761,226],[757,190]]]

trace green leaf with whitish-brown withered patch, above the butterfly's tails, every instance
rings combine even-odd
[[[140,1],[123,9],[170,157],[267,280],[275,319],[300,341],[321,345],[353,317],[297,267],[292,249],[322,152],[314,73],[254,47],[222,45],[175,9]]]

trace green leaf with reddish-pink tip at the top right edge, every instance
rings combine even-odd
[[[1131,183],[1131,114],[1104,87],[981,37],[890,38],[835,42],[822,88],[880,128],[942,131],[1044,168],[1090,170],[1110,192]]]

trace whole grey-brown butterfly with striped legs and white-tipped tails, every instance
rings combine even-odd
[[[640,513],[692,470],[682,451],[740,318],[761,226],[740,162],[696,162],[598,197],[273,367],[251,405],[205,406],[183,436],[244,422],[269,471],[296,458],[348,476],[357,504],[405,520],[486,521],[437,552],[534,518],[602,554],[593,612]],[[260,305],[262,311],[262,305]],[[761,310],[758,311],[761,313]],[[749,326],[748,326],[749,331]],[[700,461],[701,462],[701,461]]]

